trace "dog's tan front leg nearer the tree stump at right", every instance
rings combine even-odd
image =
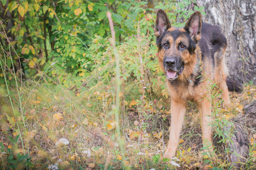
[[[213,151],[212,146],[212,126],[210,126],[210,122],[212,121],[212,104],[207,99],[203,99],[198,104],[200,116],[201,116],[201,128],[203,132],[203,145],[204,147],[209,146],[209,150]]]

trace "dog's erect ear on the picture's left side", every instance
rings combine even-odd
[[[156,14],[156,22],[155,22],[155,35],[156,37],[162,36],[163,33],[171,28],[171,23],[166,15],[166,12],[163,10],[158,10],[158,14]]]

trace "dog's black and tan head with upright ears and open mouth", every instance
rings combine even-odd
[[[196,44],[201,38],[201,13],[193,13],[184,28],[175,28],[166,12],[158,10],[155,35],[160,63],[167,79],[174,80],[183,73],[185,65],[195,60]]]

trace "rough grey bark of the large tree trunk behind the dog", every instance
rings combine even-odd
[[[203,22],[219,25],[228,39],[230,78],[256,84],[256,1],[197,0],[193,5],[204,6]]]

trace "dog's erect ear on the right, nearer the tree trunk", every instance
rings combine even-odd
[[[195,42],[201,39],[202,16],[199,11],[194,12],[188,19],[184,29],[189,33],[191,39]]]

